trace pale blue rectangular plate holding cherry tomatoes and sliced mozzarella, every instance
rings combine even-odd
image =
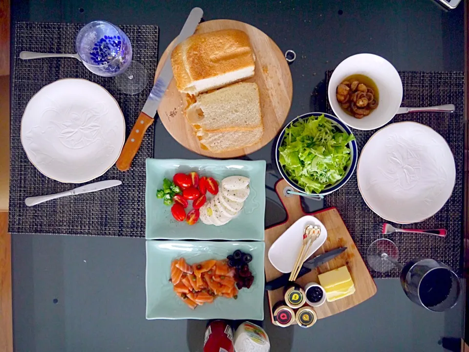
[[[156,191],[163,188],[163,179],[172,180],[174,174],[196,171],[199,176],[213,177],[218,183],[227,176],[246,176],[251,179],[250,194],[241,212],[222,226],[206,225],[197,221],[189,225],[176,221],[171,207],[156,198]],[[183,160],[147,159],[146,190],[147,240],[264,240],[265,212],[265,161],[244,160]]]

